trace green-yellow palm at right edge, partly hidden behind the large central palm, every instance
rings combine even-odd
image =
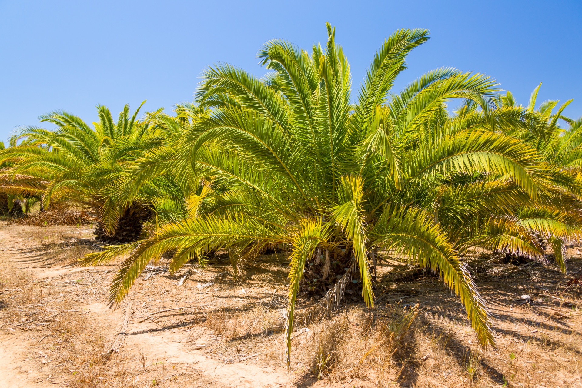
[[[541,86],[541,84],[540,84]],[[565,247],[582,237],[582,180],[580,178],[580,137],[582,119],[562,115],[572,100],[553,109],[558,101],[545,101],[535,109],[540,86],[535,88],[527,106],[518,105],[510,92],[498,95],[488,111],[466,103],[451,118],[452,126],[484,129],[519,139],[538,155],[536,195],[530,195],[513,181],[467,182],[439,195],[439,209],[453,210],[455,221],[451,236],[466,250],[479,246],[508,255],[545,261],[547,246],[563,272],[566,272]],[[569,128],[559,127],[564,119]],[[495,194],[496,193],[496,194]],[[483,201],[494,199],[498,209],[482,212]],[[467,202],[467,198],[475,198]]]

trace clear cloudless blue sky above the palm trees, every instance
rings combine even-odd
[[[310,49],[325,22],[352,65],[354,94],[374,52],[394,30],[423,27],[399,89],[428,70],[488,74],[522,104],[574,98],[582,116],[582,2],[577,1],[24,1],[0,0],[0,139],[66,109],[88,122],[191,101],[201,71],[225,61],[257,75],[255,54],[273,38]]]

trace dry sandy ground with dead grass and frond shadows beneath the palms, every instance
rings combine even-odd
[[[373,310],[354,293],[309,322],[318,296],[304,295],[287,373],[284,255],[261,258],[238,285],[228,259],[175,275],[162,261],[109,309],[115,265],[76,265],[98,249],[92,232],[0,223],[0,387],[582,387],[578,248],[567,275],[477,261],[495,350],[477,347],[437,277],[398,262],[382,263]]]

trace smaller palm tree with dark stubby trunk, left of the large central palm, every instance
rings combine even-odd
[[[94,128],[59,111],[41,116],[41,122],[56,125],[54,130],[20,130],[10,140],[12,147],[0,153],[0,161],[10,163],[1,189],[41,196],[45,208],[54,201],[73,202],[98,216],[98,241],[135,241],[151,212],[140,201],[118,206],[111,187],[130,161],[159,140],[148,136],[147,122],[137,120],[139,109],[130,117],[126,105],[118,122],[107,107],[97,106],[97,111],[100,120]]]

